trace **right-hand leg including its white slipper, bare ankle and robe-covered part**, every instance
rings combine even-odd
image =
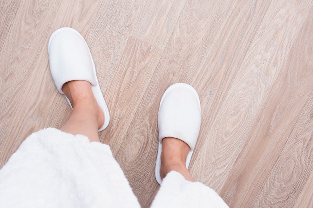
[[[199,135],[201,107],[197,92],[183,83],[170,86],[158,112],[158,153],[155,178],[161,185],[151,208],[228,208],[208,186],[188,171]]]

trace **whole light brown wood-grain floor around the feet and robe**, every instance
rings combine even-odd
[[[313,208],[311,0],[1,0],[0,167],[71,109],[47,44],[60,27],[89,44],[111,115],[100,133],[143,208],[165,89],[197,90],[202,125],[190,172],[231,208]]]

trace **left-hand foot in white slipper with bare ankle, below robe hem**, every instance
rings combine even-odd
[[[48,52],[56,88],[73,108],[61,130],[99,141],[98,132],[108,126],[110,118],[86,41],[78,31],[60,28],[51,35]]]

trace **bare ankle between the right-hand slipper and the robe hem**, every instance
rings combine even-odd
[[[170,171],[177,171],[188,181],[194,181],[186,167],[187,155],[190,147],[184,141],[173,137],[162,140],[161,169],[163,179]]]

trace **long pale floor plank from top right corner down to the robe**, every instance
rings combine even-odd
[[[305,6],[309,7],[310,2],[272,1],[211,129],[205,134],[208,139],[197,150],[199,162],[192,167],[197,170],[197,179],[217,192],[232,176],[231,168],[238,163],[236,158],[250,139],[249,132],[259,119],[268,93],[284,70],[290,48],[308,15],[303,10]],[[224,192],[222,196],[225,197]],[[234,206],[230,198],[226,199]]]

